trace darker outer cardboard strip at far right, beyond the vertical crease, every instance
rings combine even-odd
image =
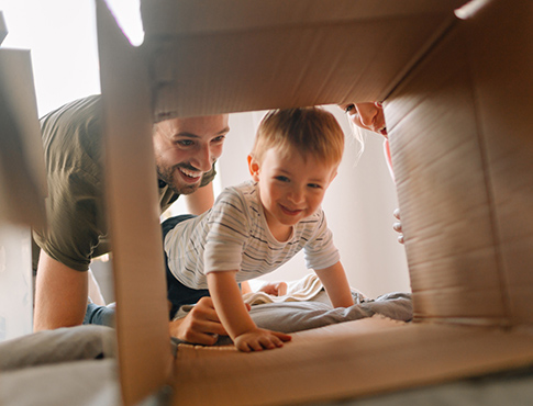
[[[467,34],[510,324],[531,325],[533,2],[495,2]]]

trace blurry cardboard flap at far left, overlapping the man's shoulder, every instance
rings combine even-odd
[[[29,50],[0,48],[0,221],[42,227],[47,183]]]

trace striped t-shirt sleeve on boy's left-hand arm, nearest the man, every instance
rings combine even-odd
[[[203,255],[204,273],[240,270],[249,218],[244,198],[226,189],[216,199],[208,219],[209,233]]]

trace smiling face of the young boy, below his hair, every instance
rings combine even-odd
[[[260,202],[274,236],[284,235],[319,208],[337,168],[312,156],[306,161],[299,153],[282,157],[274,148],[264,154],[262,162],[248,157],[248,166],[259,183]]]

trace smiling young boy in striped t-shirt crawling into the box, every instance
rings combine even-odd
[[[225,189],[212,210],[163,224],[174,311],[211,295],[236,348],[281,347],[285,334],[259,329],[238,282],[260,277],[303,249],[334,307],[354,304],[320,205],[336,176],[344,134],[320,108],[276,110],[263,119],[248,168],[253,181]]]

